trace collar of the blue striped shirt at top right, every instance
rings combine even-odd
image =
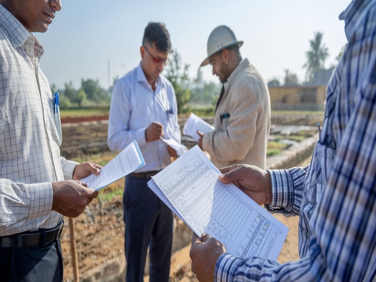
[[[375,0],[352,0],[352,2],[347,6],[347,8],[339,15],[340,20],[345,21],[345,34],[347,41],[355,32],[356,22],[358,21],[360,15],[368,4],[375,2]]]

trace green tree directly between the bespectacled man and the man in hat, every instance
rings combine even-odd
[[[170,64],[168,65],[169,67],[166,70],[166,77],[168,80],[170,80],[172,86],[174,87],[177,111],[181,113],[191,97],[191,90],[188,87],[190,82],[188,76],[189,65],[185,64],[183,71],[181,71],[182,63],[180,55],[177,52],[174,52],[170,56],[172,58],[170,60]]]

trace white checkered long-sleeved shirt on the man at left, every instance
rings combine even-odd
[[[76,162],[60,156],[60,118],[39,68],[39,41],[0,5],[0,236],[55,227],[52,185]],[[63,173],[64,170],[64,173]]]

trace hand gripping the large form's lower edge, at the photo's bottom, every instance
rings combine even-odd
[[[223,253],[227,251],[220,241],[207,234],[202,234],[200,239],[193,233],[189,255],[192,272],[200,282],[214,281],[215,264]]]

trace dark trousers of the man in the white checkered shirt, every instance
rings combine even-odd
[[[0,248],[0,281],[61,282],[63,259],[60,240],[23,248]]]

